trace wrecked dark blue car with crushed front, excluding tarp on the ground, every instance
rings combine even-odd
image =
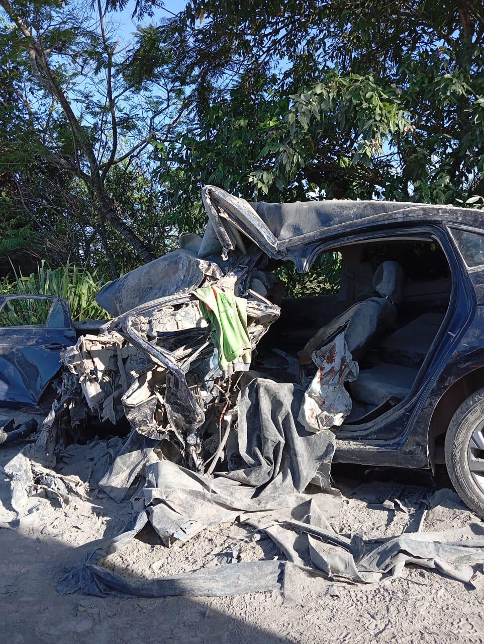
[[[214,186],[202,198],[203,237],[185,234],[178,251],[106,285],[97,299],[114,319],[64,353],[72,424],[127,417],[127,460],[156,446],[161,459],[244,480],[249,462],[261,477],[274,466],[250,431],[289,413],[295,431],[337,434],[326,464],[333,451],[372,466],[445,463],[484,516],[481,213],[250,204]],[[330,251],[339,290],[285,299],[277,267],[304,273]],[[109,473],[115,496],[142,462]]]

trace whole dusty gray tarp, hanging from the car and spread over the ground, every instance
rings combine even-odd
[[[398,576],[407,563],[469,582],[470,566],[484,561],[484,535],[476,524],[469,526],[470,538],[460,542],[442,533],[409,533],[365,543],[358,533],[339,535],[331,528],[326,517],[335,514],[339,493],[325,486],[334,435],[330,430],[308,432],[295,421],[294,410],[303,393],[293,385],[264,379],[242,388],[237,405],[240,460],[230,473],[212,478],[168,460],[146,466],[144,511],[120,535],[89,553],[78,569],[66,573],[59,592],[209,596],[284,589],[290,593],[294,566],[301,574],[331,583],[378,583]],[[321,479],[324,489],[304,493],[321,462],[327,466]],[[169,546],[207,526],[235,520],[265,531],[287,562],[234,563],[136,583],[101,565],[147,521]]]

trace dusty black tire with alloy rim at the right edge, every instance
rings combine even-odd
[[[445,464],[463,502],[484,517],[484,388],[454,413],[445,435]]]

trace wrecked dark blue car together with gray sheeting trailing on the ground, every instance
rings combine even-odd
[[[484,516],[481,214],[377,201],[249,204],[214,186],[202,200],[203,236],[182,235],[177,251],[106,285],[97,301],[112,319],[62,352],[59,396],[35,442],[3,468],[3,525],[28,521],[39,485],[66,497],[57,459],[101,422],[118,436],[95,493],[129,506],[131,518],[66,570],[61,594],[290,598],[316,578],[331,593],[333,583],[386,582],[407,564],[471,582],[484,561],[477,522],[420,532],[429,501],[419,502],[414,532],[337,533],[330,470],[333,460],[445,462]],[[339,289],[284,298],[281,267],[304,274],[326,252],[339,254]],[[7,439],[26,430],[4,429]],[[234,522],[281,554],[230,555],[134,582],[103,565],[147,524],[171,547]]]

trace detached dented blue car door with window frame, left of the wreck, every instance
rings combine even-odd
[[[24,300],[46,312],[42,323],[15,325],[15,307]],[[45,306],[47,305],[47,306]],[[8,314],[11,314],[10,316]],[[0,297],[0,406],[19,408],[35,405],[60,366],[60,352],[75,344],[67,301],[41,295]]]

